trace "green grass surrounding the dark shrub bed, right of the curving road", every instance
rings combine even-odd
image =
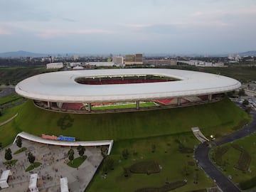
[[[256,134],[252,134],[249,137],[240,139],[233,144],[238,144],[243,149],[245,149],[251,156],[251,161],[249,165],[250,171],[240,171],[235,169],[234,166],[238,162],[240,157],[240,151],[234,149],[230,144],[225,144],[223,146],[229,146],[228,151],[223,155],[223,161],[226,161],[225,166],[219,166],[220,170],[223,171],[223,174],[226,176],[232,176],[232,180],[235,183],[240,183],[241,181],[247,181],[248,179],[256,176]],[[213,154],[213,149],[211,154]]]

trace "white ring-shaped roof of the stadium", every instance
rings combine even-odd
[[[178,79],[169,82],[147,82],[114,85],[83,85],[76,78],[129,75],[160,75]],[[188,97],[228,92],[241,86],[238,80],[222,75],[190,70],[114,69],[70,70],[43,73],[16,85],[16,92],[33,100],[50,102],[122,102]]]

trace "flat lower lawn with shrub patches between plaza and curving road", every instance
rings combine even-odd
[[[90,183],[87,191],[135,191],[137,188],[159,187],[165,182],[188,180],[188,183],[177,191],[193,191],[198,188],[214,186],[213,181],[206,177],[202,169],[198,169],[193,159],[193,153],[181,154],[178,151],[178,139],[184,146],[198,144],[192,133],[176,134],[165,137],[150,137],[146,139],[129,139],[114,143],[111,158],[114,159],[114,170],[109,171],[106,178],[102,169]],[[156,151],[151,152],[151,145],[156,145]],[[128,149],[129,158],[122,158],[122,150]],[[129,168],[140,161],[156,161],[161,166],[159,174],[130,174],[124,177],[124,168]],[[188,166],[193,161],[194,166]],[[188,167],[188,176],[183,173]],[[198,171],[196,171],[198,169]],[[198,174],[198,184],[194,184],[194,176]]]

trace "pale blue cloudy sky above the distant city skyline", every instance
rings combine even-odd
[[[255,0],[0,0],[0,52],[256,50]]]

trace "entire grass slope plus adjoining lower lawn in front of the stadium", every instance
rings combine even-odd
[[[166,181],[187,179],[188,184],[178,189],[191,189],[213,186],[204,172],[196,166],[188,166],[193,154],[178,151],[177,140],[184,146],[193,148],[198,141],[191,133],[191,127],[200,127],[208,137],[210,134],[223,135],[233,132],[233,127],[244,119],[250,119],[245,112],[236,107],[227,98],[223,101],[192,107],[155,110],[146,112],[127,112],[115,114],[69,114],[73,119],[71,127],[58,127],[59,119],[67,114],[48,112],[38,109],[31,101],[18,107],[5,110],[2,119],[11,112],[18,112],[18,117],[0,127],[0,141],[3,146],[10,144],[18,132],[31,134],[63,134],[80,140],[114,139],[111,158],[114,170],[107,178],[102,178],[98,171],[89,191],[134,191],[147,186],[162,186]],[[151,146],[156,151],[151,152]],[[122,158],[122,150],[129,150],[129,159]],[[154,160],[163,169],[159,174],[132,174],[123,176],[123,168],[138,161]],[[187,169],[188,175],[184,174]],[[194,184],[195,179],[198,184]]]

